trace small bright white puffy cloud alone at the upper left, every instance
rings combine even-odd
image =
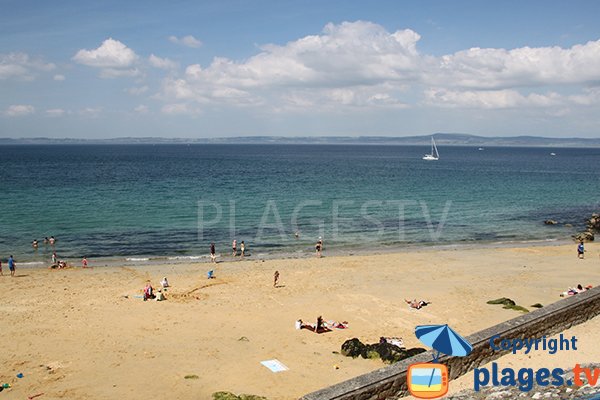
[[[123,43],[112,38],[106,39],[94,50],[79,50],[73,61],[98,68],[128,68],[138,60],[137,54]]]

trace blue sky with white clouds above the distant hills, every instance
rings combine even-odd
[[[600,1],[0,10],[0,138],[600,136]]]

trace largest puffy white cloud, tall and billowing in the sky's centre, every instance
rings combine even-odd
[[[409,29],[388,33],[370,22],[328,24],[322,35],[263,46],[244,62],[216,57],[206,68],[190,65],[183,76],[164,81],[162,95],[166,101],[277,107],[286,101],[294,107],[320,101],[401,105],[392,91],[418,78],[419,38]],[[384,84],[389,92],[376,92]]]

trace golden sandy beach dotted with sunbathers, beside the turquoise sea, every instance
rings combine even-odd
[[[216,391],[298,398],[384,366],[334,353],[347,339],[399,336],[407,347],[421,346],[416,325],[448,323],[466,336],[519,315],[487,300],[509,297],[531,309],[560,300],[578,283],[600,284],[600,245],[586,250],[584,260],[574,244],[221,257],[216,265],[135,268],[97,266],[92,259],[93,269],[18,268],[15,278],[4,268],[0,383],[12,388],[0,398],[209,399]],[[209,269],[215,279],[206,278]],[[146,281],[157,288],[164,276],[171,284],[167,300],[143,301]],[[431,304],[411,309],[404,299],[413,298]],[[297,319],[314,323],[319,315],[347,321],[348,329],[295,329]],[[551,356],[553,364],[600,356],[592,340],[597,319],[573,329],[581,350]],[[273,373],[260,363],[271,359],[289,370]],[[514,362],[534,367],[544,360]],[[472,377],[460,379],[454,389],[472,385]]]

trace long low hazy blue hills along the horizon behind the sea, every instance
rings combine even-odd
[[[425,145],[431,136],[443,146],[523,146],[523,147],[600,147],[599,139],[547,138],[539,136],[485,137],[461,133],[435,133],[424,136],[239,136],[225,138],[160,138],[123,137],[114,139],[55,139],[21,138],[3,139],[2,145],[48,144],[365,144],[365,145]]]

